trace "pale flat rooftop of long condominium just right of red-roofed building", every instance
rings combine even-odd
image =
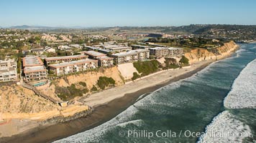
[[[54,68],[60,68],[60,67],[66,67],[66,66],[74,66],[77,64],[85,64],[85,63],[89,63],[89,62],[97,62],[97,60],[95,59],[81,59],[78,61],[69,61],[69,62],[63,62],[60,64],[50,64],[49,66],[54,67]]]

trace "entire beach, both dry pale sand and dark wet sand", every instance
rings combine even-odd
[[[82,102],[95,108],[93,114],[89,114],[86,117],[74,119],[69,122],[35,127],[20,134],[13,135],[12,137],[2,137],[0,138],[0,142],[20,142],[21,140],[22,142],[52,142],[79,132],[84,132],[88,129],[92,129],[93,127],[109,121],[113,117],[116,117],[117,114],[123,112],[125,109],[127,109],[127,107],[137,102],[137,99],[142,94],[150,94],[151,92],[154,92],[165,85],[177,82],[180,79],[191,77],[193,74],[201,71],[201,69],[204,69],[214,61],[219,61],[220,59],[232,56],[236,50],[237,47],[234,48],[234,50],[229,51],[227,54],[222,55],[218,60],[198,61],[197,63],[192,64],[191,68],[188,69],[183,68],[162,71],[159,74],[155,74],[158,80],[155,83],[149,83],[149,81],[155,81],[152,75],[140,79],[137,82],[132,82],[132,84],[124,84],[120,87],[114,87],[103,92],[92,94],[87,99],[83,99],[82,97],[80,99]],[[158,78],[161,76],[162,79]],[[118,94],[119,92],[122,92],[122,94]],[[113,93],[117,94],[113,95]],[[99,98],[101,98],[101,100]]]

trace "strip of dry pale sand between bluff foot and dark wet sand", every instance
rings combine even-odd
[[[103,92],[98,92],[96,94],[91,94],[89,97],[82,97],[79,101],[84,104],[88,104],[91,107],[98,107],[102,104],[107,104],[113,99],[124,97],[125,94],[131,94],[137,92],[140,89],[145,89],[149,87],[154,87],[157,84],[163,84],[171,79],[178,78],[180,75],[187,74],[191,71],[195,71],[201,66],[208,65],[213,60],[201,61],[196,64],[192,64],[188,68],[181,69],[170,69],[167,71],[159,71],[156,74],[151,74],[143,79],[139,79],[135,82],[129,82],[120,87],[114,87],[112,89],[107,89]]]

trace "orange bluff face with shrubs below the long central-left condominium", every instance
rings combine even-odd
[[[59,92],[65,92],[64,90],[67,90],[71,86],[74,86],[77,89],[81,89],[81,82],[85,84],[86,90],[88,92],[86,94],[91,94],[92,92],[100,92],[101,89],[99,89],[97,82],[100,77],[107,77],[114,79],[114,86],[121,86],[124,84],[124,79],[122,75],[120,74],[119,70],[116,66],[109,67],[109,68],[101,68],[93,71],[87,71],[83,73],[78,74],[71,74],[67,75],[65,77],[57,77],[56,79],[52,79],[51,84],[48,88],[41,89],[41,92],[45,94],[55,95],[55,97],[58,97]],[[96,91],[92,91],[93,87],[97,87]],[[106,89],[109,87],[106,87]],[[63,91],[60,91],[60,89],[63,89]],[[68,94],[68,93],[67,93]],[[84,94],[85,95],[85,94]]]

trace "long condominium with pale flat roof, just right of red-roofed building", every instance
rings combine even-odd
[[[49,65],[50,71],[53,71],[57,76],[95,69],[96,67],[98,67],[98,61],[94,59],[81,59]]]

